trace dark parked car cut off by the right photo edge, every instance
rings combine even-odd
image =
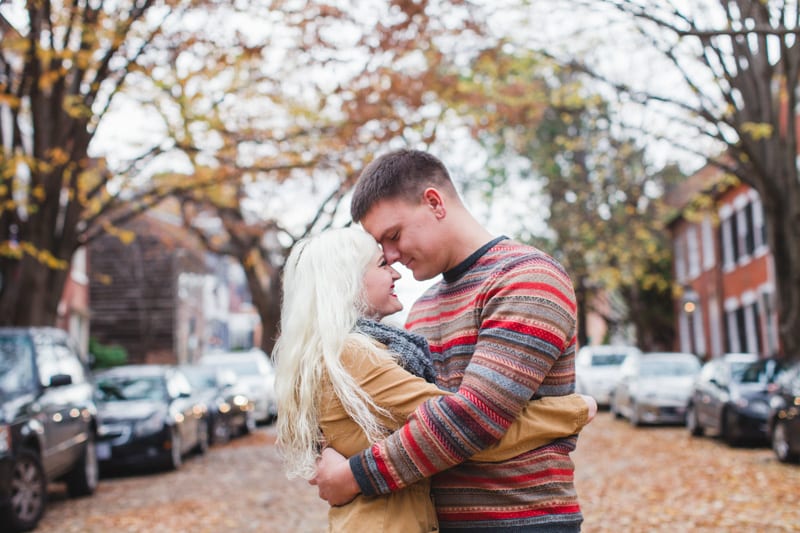
[[[770,397],[767,432],[784,463],[800,460],[800,363],[784,369]]]

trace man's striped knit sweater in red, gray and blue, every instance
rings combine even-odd
[[[365,495],[433,476],[443,529],[524,531],[582,521],[560,439],[502,463],[468,459],[499,440],[532,397],[575,388],[576,303],[563,268],[505,238],[445,272],[407,327],[430,343],[437,385],[454,396],[422,404],[405,426],[350,459]]]

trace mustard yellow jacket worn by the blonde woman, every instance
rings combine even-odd
[[[390,413],[389,417],[378,415],[390,431],[400,428],[425,400],[452,394],[406,372],[393,360],[364,348],[345,350],[342,364],[375,404]],[[361,428],[347,415],[329,381],[322,387],[319,409],[322,433],[336,451],[350,457],[370,445]],[[587,419],[586,403],[576,394],[531,401],[502,440],[476,454],[473,460],[511,459],[556,438],[578,433]],[[346,505],[331,507],[328,530],[345,533],[438,531],[430,482],[420,481],[382,496],[359,495]]]

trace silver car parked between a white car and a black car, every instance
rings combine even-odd
[[[691,353],[642,352],[625,358],[611,412],[631,424],[683,424],[700,360]]]

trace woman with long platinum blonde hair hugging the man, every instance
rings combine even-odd
[[[310,479],[325,446],[350,456],[399,428],[433,396],[422,337],[381,324],[400,311],[397,271],[359,228],[299,242],[286,262],[277,360],[278,444],[287,475]],[[473,457],[500,461],[572,435],[588,422],[578,395],[530,402],[503,439]],[[363,497],[328,514],[332,531],[436,531],[429,483]]]

